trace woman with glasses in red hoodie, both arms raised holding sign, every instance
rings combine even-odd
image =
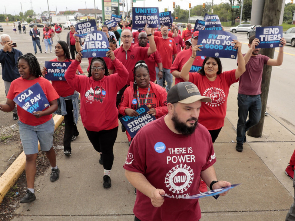
[[[68,84],[81,94],[81,119],[89,141],[99,152],[99,163],[104,166],[103,187],[110,188],[110,173],[114,162],[113,146],[118,132],[118,109],[116,96],[126,85],[129,73],[114,52],[106,52],[117,73],[109,75],[106,62],[101,57],[91,60],[88,76],[76,75],[76,70],[82,60],[82,53],[76,55],[65,72]]]

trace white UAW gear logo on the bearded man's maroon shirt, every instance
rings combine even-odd
[[[194,179],[193,170],[186,165],[174,166],[165,177],[166,187],[173,193],[183,193],[191,186]]]

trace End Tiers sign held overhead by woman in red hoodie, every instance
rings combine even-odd
[[[83,57],[106,57],[109,50],[109,40],[106,33],[101,31],[89,32],[83,44]]]

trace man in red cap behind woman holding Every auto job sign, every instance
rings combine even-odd
[[[177,54],[176,59],[170,67],[170,73],[175,77],[175,84],[179,82],[183,82],[182,78],[180,78],[180,71],[183,65],[187,62],[189,57],[191,57],[192,50],[191,48],[198,45],[198,37],[199,31],[195,31],[191,36],[191,47],[187,50],[183,50]],[[198,72],[201,69],[204,56],[196,56],[193,65],[191,66],[191,70],[189,72]]]

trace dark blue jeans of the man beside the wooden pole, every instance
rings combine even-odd
[[[238,94],[238,123],[237,123],[237,143],[242,144],[246,136],[246,131],[256,125],[261,116],[260,95]],[[249,113],[249,119],[247,116]]]

